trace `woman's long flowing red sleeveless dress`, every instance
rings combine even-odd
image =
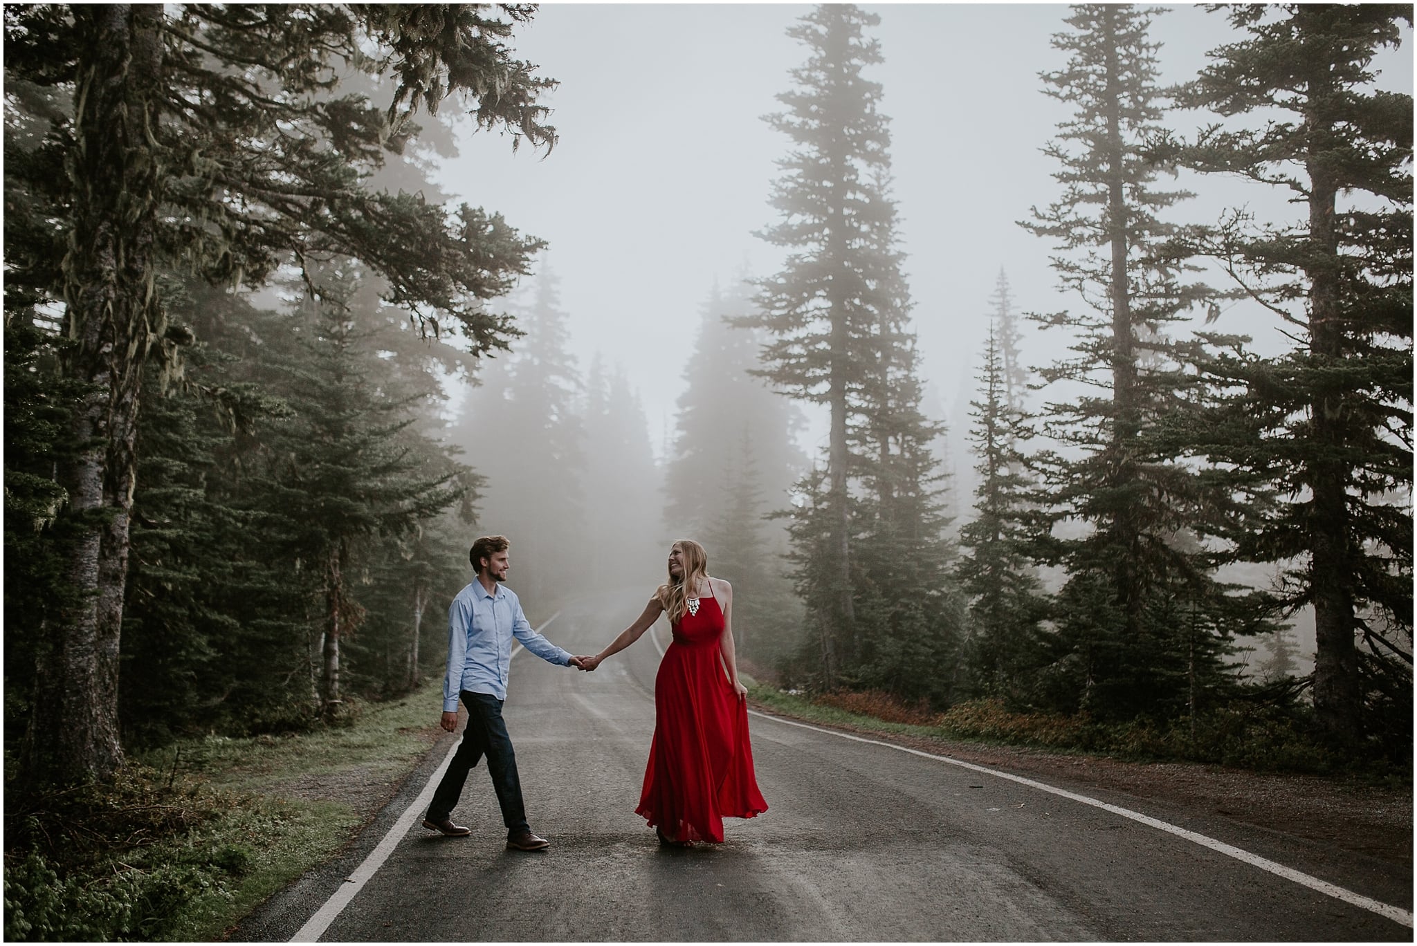
[[[655,741],[636,814],[673,841],[723,844],[726,817],[768,810],[752,775],[748,707],[718,659],[723,610],[713,595],[684,612],[655,676]]]

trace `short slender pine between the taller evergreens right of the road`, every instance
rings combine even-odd
[[[971,443],[978,457],[975,518],[959,530],[969,549],[956,574],[971,596],[968,664],[975,687],[1010,702],[1026,701],[1027,676],[1037,666],[1033,644],[1046,613],[1029,552],[1037,514],[1033,484],[1019,443],[1032,436],[1026,415],[1009,398],[1009,374],[989,329],[979,399],[971,401],[975,426]]]

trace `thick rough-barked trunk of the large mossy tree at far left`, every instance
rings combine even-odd
[[[72,205],[64,259],[69,377],[89,382],[75,412],[81,450],[60,465],[68,490],[67,576],[38,657],[26,736],[38,785],[106,779],[123,765],[118,654],[128,579],[143,365],[163,331],[153,296],[159,160],[149,130],[162,88],[163,7],[75,6],[79,44]]]

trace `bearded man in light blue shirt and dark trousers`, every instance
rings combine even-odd
[[[541,660],[563,667],[584,670],[578,657],[561,650],[531,630],[521,602],[500,582],[507,579],[512,565],[507,557],[510,542],[502,535],[483,535],[468,551],[468,559],[478,572],[452,599],[448,609],[448,674],[444,677],[442,728],[458,728],[458,700],[468,707],[468,728],[462,745],[448,765],[448,772],[434,792],[424,827],[449,837],[472,834],[469,828],[452,823],[452,809],[462,796],[462,785],[478,759],[487,756],[492,787],[502,806],[502,820],[507,826],[507,850],[540,851],[550,841],[537,837],[527,826],[521,803],[521,782],[517,759],[502,721],[502,702],[507,698],[507,670],[512,664],[512,639]]]

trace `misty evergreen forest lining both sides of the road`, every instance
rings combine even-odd
[[[1020,225],[1058,303],[1020,312],[1000,272],[962,494],[877,14],[792,27],[758,234],[782,266],[674,313],[697,334],[657,431],[572,347],[555,246],[436,183],[458,122],[557,160],[533,6],[7,4],[7,828],[133,753],[340,726],[439,676],[489,532],[533,622],[699,538],[784,690],[1410,772],[1413,102],[1370,65],[1411,6],[1216,8],[1179,86],[1159,8],[1056,13],[1039,81],[1070,118]],[[1187,217],[1178,170],[1292,214]],[[1234,300],[1288,350],[1212,324]],[[1066,357],[1034,365],[1024,326]]]

